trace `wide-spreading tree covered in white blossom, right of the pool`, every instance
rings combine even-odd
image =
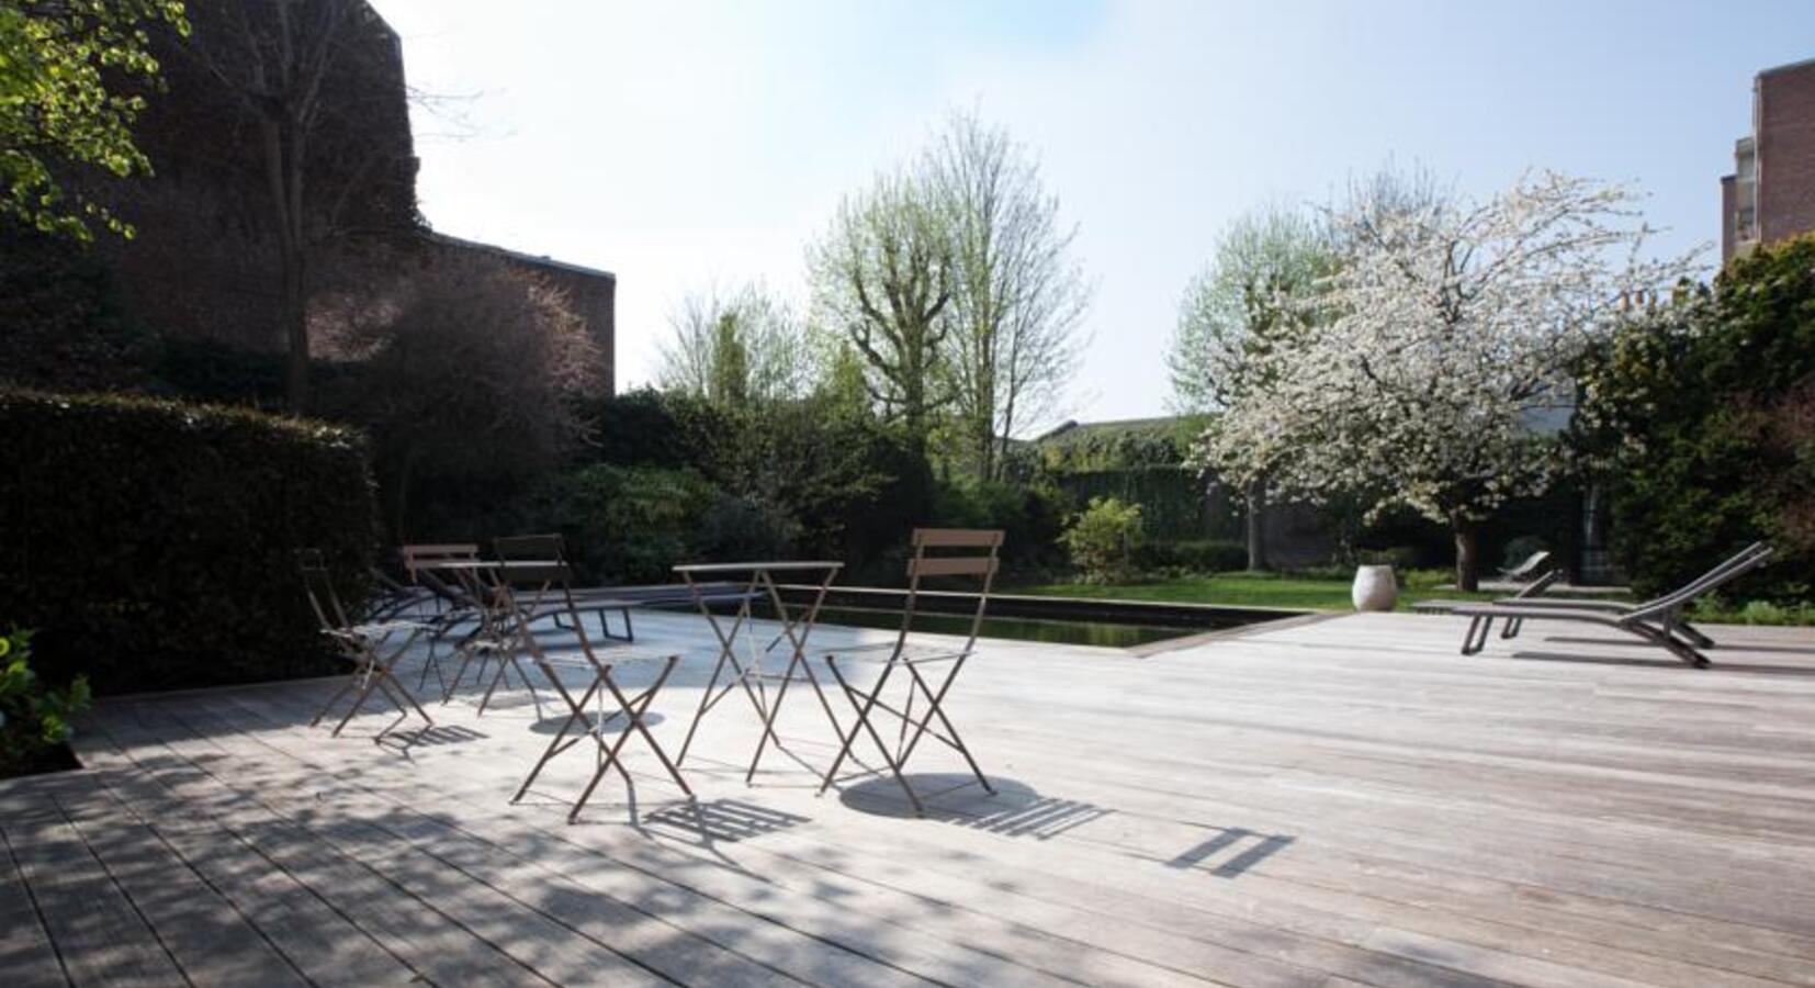
[[[1559,469],[1546,432],[1574,400],[1572,363],[1621,300],[1690,258],[1641,260],[1637,196],[1555,173],[1467,203],[1383,176],[1330,211],[1339,263],[1318,332],[1260,356],[1274,381],[1205,434],[1205,456],[1290,447],[1272,478],[1303,496],[1361,492],[1456,536],[1477,587],[1477,532]]]

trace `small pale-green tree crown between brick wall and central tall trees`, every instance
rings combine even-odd
[[[722,405],[800,398],[811,387],[806,331],[793,309],[760,285],[690,292],[668,325],[657,370],[662,387]]]

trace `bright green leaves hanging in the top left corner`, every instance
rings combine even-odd
[[[132,143],[158,76],[147,27],[189,31],[178,0],[15,0],[0,4],[0,220],[89,240],[89,220],[131,236],[105,207],[69,202],[69,165],[145,174]]]

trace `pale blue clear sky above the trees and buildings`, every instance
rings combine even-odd
[[[1470,194],[1634,182],[1661,249],[1715,243],[1753,73],[1815,56],[1815,0],[374,5],[412,85],[465,96],[416,118],[428,222],[615,272],[621,389],[688,289],[804,303],[808,240],[947,109],[1007,125],[1096,283],[1080,420],[1165,412],[1180,292],[1232,216],[1388,160]]]

